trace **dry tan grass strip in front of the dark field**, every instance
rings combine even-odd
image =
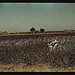
[[[0,64],[0,72],[75,72],[75,67],[51,68],[49,63],[41,63],[34,66],[27,66],[25,64]]]

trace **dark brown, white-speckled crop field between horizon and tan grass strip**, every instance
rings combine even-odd
[[[55,39],[58,46],[49,52],[47,43]],[[75,34],[0,36],[0,64],[19,63],[50,63],[53,68],[75,66]]]

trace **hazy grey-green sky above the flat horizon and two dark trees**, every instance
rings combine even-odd
[[[75,3],[0,3],[0,31],[75,30]]]

